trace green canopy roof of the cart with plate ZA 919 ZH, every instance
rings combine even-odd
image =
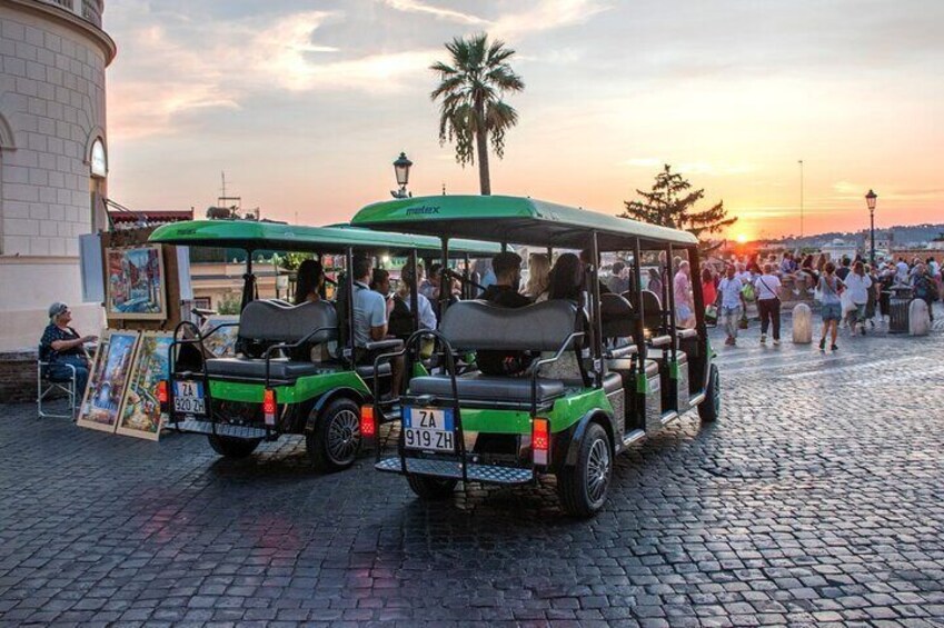
[[[369,205],[355,215],[355,227],[495,242],[583,249],[596,231],[599,249],[644,248],[672,243],[694,247],[688,231],[656,227],[596,211],[523,197],[437,196]]]

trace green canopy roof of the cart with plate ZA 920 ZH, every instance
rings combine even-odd
[[[302,227],[281,222],[255,220],[190,220],[171,222],[155,229],[151,242],[177,245],[180,247],[222,247],[257,250],[285,250],[291,252],[341,253],[348,247],[357,250],[407,252],[416,249],[420,252],[439,255],[440,242],[437,238],[384,233],[350,226]],[[450,243],[451,245],[451,243]],[[454,257],[490,257],[501,250],[495,242],[473,240],[457,241],[451,245]]]

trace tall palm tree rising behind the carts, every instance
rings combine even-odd
[[[437,61],[429,67],[439,73],[439,86],[429,94],[441,99],[439,107],[439,144],[456,143],[456,161],[475,163],[478,152],[478,179],[483,195],[491,193],[488,173],[488,139],[501,159],[505,131],[518,122],[518,112],[504,102],[506,92],[521,91],[525,83],[508,64],[515,53],[505,42],[488,42],[485,33],[468,39],[454,38],[446,43],[453,56],[449,63]]]

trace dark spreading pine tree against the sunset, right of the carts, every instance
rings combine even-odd
[[[668,163],[656,175],[656,182],[650,192],[636,190],[636,193],[643,200],[624,201],[626,210],[619,215],[620,218],[684,229],[702,240],[703,251],[721,246],[721,242],[709,245],[704,241],[703,235],[716,233],[737,221],[737,217],[727,217],[723,200],[709,209],[697,211],[695,203],[704,198],[704,188],[693,190],[692,183],[682,175],[673,172]]]

